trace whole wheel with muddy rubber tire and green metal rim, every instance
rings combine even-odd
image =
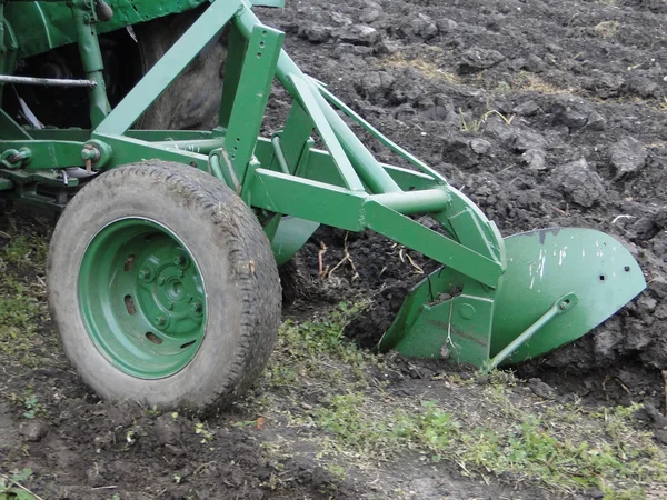
[[[280,322],[268,239],[227,186],[146,161],[103,173],[51,240],[48,297],[66,353],[102,398],[225,406],[266,366]]]

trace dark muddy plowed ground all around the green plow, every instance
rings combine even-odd
[[[29,468],[17,480],[44,499],[666,498],[664,474],[626,478],[621,466],[614,473],[600,466],[581,472],[597,482],[575,487],[565,476],[532,473],[532,461],[517,461],[521,471],[475,458],[479,449],[468,439],[485,426],[507,429],[504,450],[512,450],[537,416],[559,443],[576,434],[597,456],[607,443],[621,464],[664,462],[666,3],[311,0],[258,12],[287,32],[286,47],[305,71],[445,173],[504,236],[554,226],[603,230],[633,249],[648,290],[575,344],[519,368],[521,380],[351,354],[338,343],[312,354],[290,337],[297,327],[286,326],[248,399],[200,421],[101,402],[79,381],[43,303],[50,221],[10,211],[0,226],[0,472]],[[288,106],[276,90],[267,132]],[[331,272],[346,250],[354,267],[346,261]],[[286,318],[308,322],[341,300],[371,298],[347,326],[350,337],[386,326],[420,270],[434,268],[377,236],[331,229],[320,229],[300,260],[308,286]],[[321,333],[308,324],[299,336]],[[375,420],[341,417],[349,426],[331,426],[327,412],[347,408],[335,398],[351,390],[365,399],[346,401]],[[475,422],[468,438],[452,434],[445,448],[454,451],[418,433],[398,444],[370,438],[387,429],[369,422],[392,411],[421,414],[428,401],[457,429]],[[615,407],[631,403],[645,408],[618,433],[609,427]]]

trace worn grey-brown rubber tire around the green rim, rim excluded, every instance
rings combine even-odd
[[[152,219],[199,266],[207,292],[206,336],[179,372],[146,380],[117,369],[83,326],[78,277],[96,233],[120,218]],[[68,204],[50,244],[48,300],[64,351],[100,397],[161,409],[209,410],[242,393],[265,368],[281,311],[278,270],[251,210],[227,186],[180,163],[146,161],[103,173]]]

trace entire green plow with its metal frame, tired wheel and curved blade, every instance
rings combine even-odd
[[[445,177],[295,64],[282,50],[283,33],[252,12],[253,4],[281,2],[216,0],[206,9],[201,1],[181,3],[0,6],[6,97],[9,84],[19,91],[23,86],[88,88],[91,127],[39,127],[3,104],[0,196],[63,211],[51,248],[51,309],[70,359],[103,397],[203,407],[247,387],[270,351],[252,346],[275,341],[276,266],[289,261],[319,224],[371,229],[441,264],[409,292],[379,342],[380,350],[407,356],[482,369],[518,363],[578,339],[646,287],[629,251],[601,232],[551,228],[502,238]],[[199,6],[202,12],[192,26],[112,107],[100,33]],[[218,126],[139,128],[151,103],[226,27]],[[18,60],[68,44],[79,49],[82,80],[12,77]],[[276,79],[291,94],[292,107],[280,130],[260,138]],[[346,119],[410,168],[380,163]],[[322,149],[315,148],[313,131]],[[77,176],[68,176],[72,169]],[[146,183],[147,172],[155,182]],[[145,191],[129,194],[139,189]],[[424,214],[439,230],[414,217]],[[207,217],[212,223],[201,222]],[[190,233],[195,221],[205,224],[201,241]],[[261,238],[252,224],[263,231]],[[211,236],[219,231],[228,236]],[[237,240],[242,246],[227,251],[228,241]],[[229,284],[218,292],[221,282]],[[252,308],[243,309],[247,303]],[[257,340],[247,343],[250,338]],[[217,349],[231,358],[216,361]],[[246,367],[242,376],[233,367]],[[222,386],[226,392],[217,389]]]

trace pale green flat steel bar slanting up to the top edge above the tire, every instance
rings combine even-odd
[[[99,124],[93,137],[125,133],[242,8],[241,0],[213,2]]]

